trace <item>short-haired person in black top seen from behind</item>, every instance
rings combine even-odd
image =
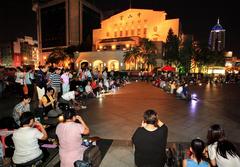
[[[168,128],[154,110],[145,111],[143,117],[142,126],[132,136],[135,164],[137,167],[164,167]]]

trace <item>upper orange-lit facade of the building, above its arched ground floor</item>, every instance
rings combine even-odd
[[[179,19],[166,19],[166,12],[128,9],[101,22],[93,31],[95,50],[122,50],[139,44],[140,38],[166,42],[168,31],[180,34]]]

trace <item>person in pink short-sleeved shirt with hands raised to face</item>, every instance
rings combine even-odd
[[[63,113],[64,122],[59,123],[56,128],[60,144],[60,166],[73,167],[75,161],[83,159],[83,153],[87,147],[82,145],[81,135],[89,134],[89,128],[82,117],[76,115],[73,109],[67,109]]]

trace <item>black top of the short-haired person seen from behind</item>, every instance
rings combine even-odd
[[[162,167],[166,162],[168,128],[163,125],[155,131],[139,127],[133,137],[135,164],[138,167]]]

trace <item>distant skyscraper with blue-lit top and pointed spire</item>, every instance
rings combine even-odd
[[[212,51],[225,49],[225,29],[220,25],[219,18],[217,24],[211,30],[208,44]]]

